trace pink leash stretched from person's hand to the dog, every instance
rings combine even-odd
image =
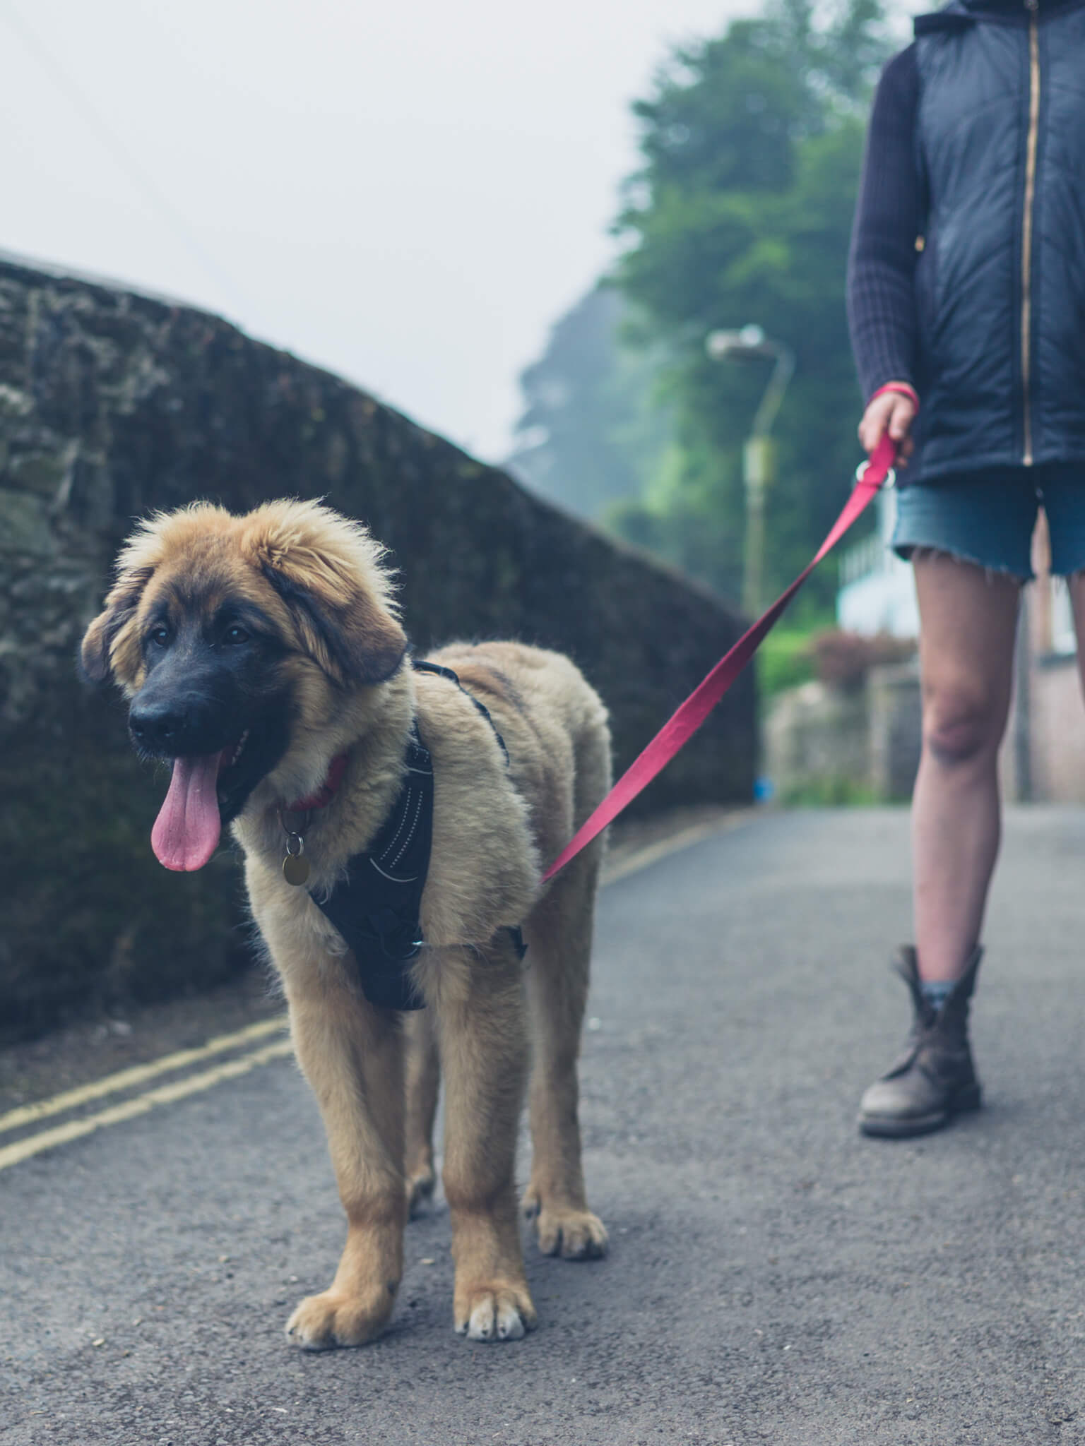
[[[768,612],[762,613],[754,626],[748,629],[748,632],[742,633],[733,648],[731,648],[731,651],[720,658],[707,678],[705,678],[705,681],[700,683],[693,693],[690,693],[686,701],[678,707],[677,713],[674,713],[663,724],[641,756],[635,759],[629,768],[626,768],[592,817],[576,831],[542,875],[544,884],[548,879],[553,879],[560,869],[564,869],[570,859],[574,859],[582,849],[587,847],[592,839],[600,834],[609,823],[613,823],[618,814],[624,808],[628,808],[634,798],[648,787],[652,778],[655,778],[657,774],[661,774],[674,755],[689,743],[709,713],[712,713],[735,678],[738,678],[739,672],[742,672],[745,665],[761,646],[762,639],[773,629],[780,615],[807,580],[810,573],[813,573],[826,552],[829,552],[841,541],[848,528],[868,506],[882,482],[885,482],[895,457],[897,444],[887,432],[871,453],[871,460],[856,482],[851,497],[845,503],[843,512],[833,523],[829,536],[817,548],[813,560],[807,562],[794,583],[791,583],[791,586],[783,591],[780,597],[777,597]]]

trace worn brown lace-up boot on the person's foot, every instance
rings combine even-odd
[[[977,949],[940,1009],[923,998],[916,950],[901,949],[894,969],[911,992],[913,1021],[904,1053],[862,1096],[864,1135],[923,1135],[963,1109],[979,1109],[979,1080],[968,1047],[968,1005],[982,959]]]

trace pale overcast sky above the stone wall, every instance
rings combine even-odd
[[[220,311],[486,458],[615,254],[629,101],[754,0],[0,0],[0,247]]]

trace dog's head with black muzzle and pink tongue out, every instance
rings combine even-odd
[[[152,833],[166,868],[203,868],[295,740],[396,672],[407,638],[382,558],[315,502],[244,516],[201,502],[129,538],[81,665],[129,697],[140,755],[174,762]]]

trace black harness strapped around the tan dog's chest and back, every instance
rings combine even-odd
[[[435,672],[456,684],[493,729],[508,765],[505,740],[488,709],[463,687],[451,668],[414,662],[420,672]],[[392,810],[365,853],[347,863],[347,875],[327,898],[312,902],[336,925],[357,960],[362,992],[383,1009],[421,1009],[409,967],[422,947],[422,889],[433,844],[433,758],[411,724],[407,777]],[[519,928],[508,931],[516,956],[527,953]]]

